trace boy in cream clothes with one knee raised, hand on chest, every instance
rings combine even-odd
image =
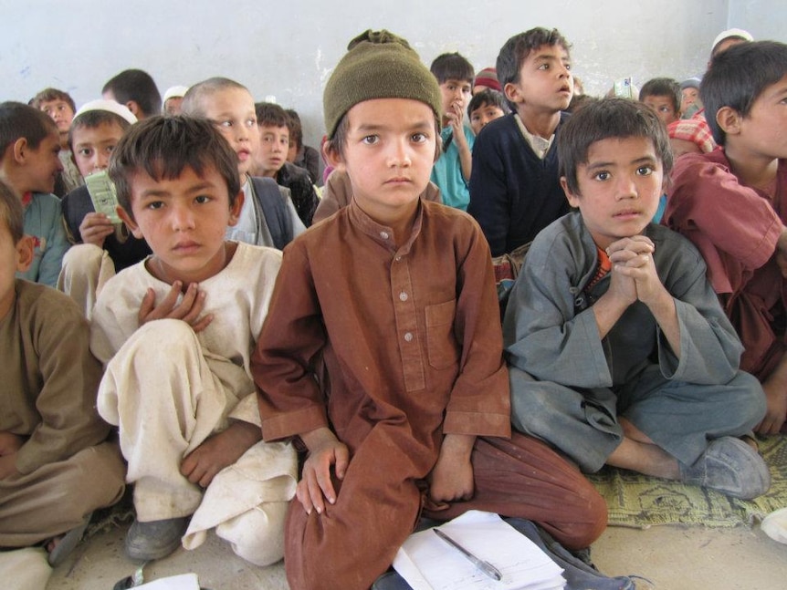
[[[281,254],[226,242],[243,192],[235,153],[204,119],[133,126],[110,177],[123,222],[153,252],[105,285],[90,341],[106,366],[99,412],[119,426],[134,483],[126,554],[159,559],[184,532],[193,549],[215,527],[236,554],[274,563],[295,453],[260,441],[248,358]]]

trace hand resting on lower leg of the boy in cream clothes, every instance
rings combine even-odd
[[[235,463],[261,439],[262,430],[258,426],[234,421],[229,428],[206,439],[186,455],[181,473],[188,481],[206,488],[219,471]]]

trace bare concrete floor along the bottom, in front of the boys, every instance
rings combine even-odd
[[[56,569],[47,590],[111,590],[135,565],[123,556],[125,528],[101,533]],[[639,574],[659,590],[781,590],[787,588],[787,545],[752,529],[657,526],[610,527],[593,544],[593,561],[605,574]],[[260,568],[236,557],[215,536],[193,552],[178,550],[149,564],[145,581],[194,572],[211,590],[288,590],[282,564]]]

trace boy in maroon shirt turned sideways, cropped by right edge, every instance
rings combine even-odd
[[[700,95],[722,149],[677,161],[665,223],[707,261],[745,348],[741,368],[760,378],[768,399],[757,430],[775,433],[787,417],[787,45],[729,47],[713,59]]]

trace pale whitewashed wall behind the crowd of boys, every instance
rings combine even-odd
[[[700,73],[729,13],[781,40],[784,0],[2,0],[0,99],[26,101],[47,86],[78,105],[127,67],[150,72],[162,93],[211,76],[234,78],[258,100],[299,110],[306,140],[322,134],[321,94],[347,42],[366,28],[406,37],[428,64],[459,51],[495,63],[509,36],[556,26],[572,43],[575,74],[592,94],[616,78]],[[733,6],[730,11],[729,5]],[[766,13],[761,16],[753,12]],[[774,14],[775,13],[775,14]],[[761,19],[761,28],[754,21]],[[778,23],[781,22],[781,26]],[[759,21],[758,21],[759,23]],[[768,29],[766,27],[772,27]]]

